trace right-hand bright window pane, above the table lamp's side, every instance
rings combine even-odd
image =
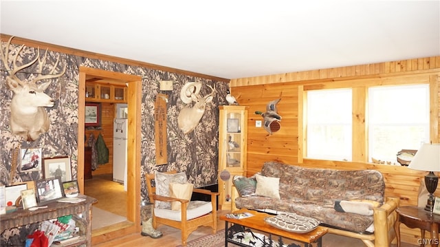
[[[429,141],[429,85],[369,88],[369,162]]]

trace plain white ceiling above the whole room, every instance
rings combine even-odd
[[[440,56],[440,1],[6,1],[0,32],[243,78]]]

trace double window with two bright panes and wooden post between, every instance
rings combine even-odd
[[[362,95],[366,100],[352,100],[359,90],[307,90],[305,157],[351,161],[353,152],[358,151],[368,153],[368,157],[355,161],[375,159],[382,164],[397,164],[396,155],[401,149],[417,150],[430,140],[428,84],[371,85],[365,89]],[[352,109],[364,109],[363,127],[353,125]],[[365,133],[360,138],[365,142],[358,146],[353,144],[354,127]],[[363,147],[368,150],[358,150]]]

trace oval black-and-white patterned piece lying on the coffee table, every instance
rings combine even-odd
[[[266,217],[264,220],[271,226],[292,233],[308,233],[321,223],[318,219],[287,212],[281,212],[275,217]]]

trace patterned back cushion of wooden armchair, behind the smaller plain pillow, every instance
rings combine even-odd
[[[179,184],[184,184],[187,182],[186,173],[155,173],[155,186],[156,195],[170,196],[170,182],[177,182]],[[155,201],[155,207],[160,208],[170,208],[171,204],[169,202],[159,202]]]

